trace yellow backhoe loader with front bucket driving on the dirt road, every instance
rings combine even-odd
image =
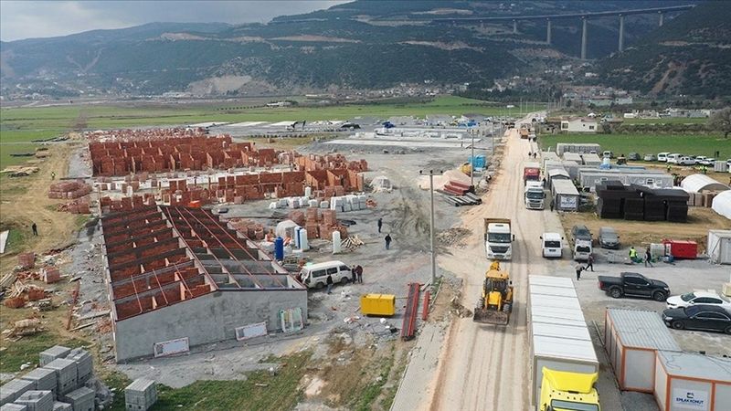
[[[477,301],[472,320],[485,324],[507,325],[513,311],[513,281],[500,262],[493,261],[485,272],[482,297]]]

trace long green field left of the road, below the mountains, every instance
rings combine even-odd
[[[259,101],[258,103],[261,103]],[[33,146],[10,143],[55,137],[73,130],[136,128],[154,125],[187,125],[196,122],[221,121],[318,121],[348,120],[357,116],[388,118],[429,114],[460,115],[479,113],[497,116],[506,114],[506,104],[490,104],[482,100],[454,96],[438,97],[429,102],[344,104],[326,107],[278,107],[238,109],[240,102],[209,104],[153,104],[148,102],[119,105],[69,105],[0,110],[0,168],[23,163],[22,157],[10,153],[32,151]],[[536,105],[535,110],[544,110]],[[512,109],[517,115],[517,109]]]

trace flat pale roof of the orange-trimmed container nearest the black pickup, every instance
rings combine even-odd
[[[655,311],[608,308],[607,315],[625,347],[680,351],[680,346]]]

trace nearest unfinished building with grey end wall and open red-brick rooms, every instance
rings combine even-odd
[[[307,290],[200,208],[152,205],[101,218],[117,362],[302,327]]]

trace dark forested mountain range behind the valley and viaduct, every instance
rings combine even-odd
[[[305,15],[277,17],[268,24],[152,23],[94,30],[0,43],[1,91],[7,95],[32,90],[56,96],[90,90],[122,95],[167,91],[254,95],[373,90],[425,81],[489,84],[493,79],[576,62],[579,20],[556,20],[548,45],[543,21],[521,21],[514,33],[509,21],[450,25],[438,24],[435,18],[588,13],[694,3],[698,2],[358,0]],[[726,7],[723,2],[708,2],[669,14],[677,18],[660,29],[657,16],[627,16],[625,39],[630,47],[621,54],[615,53],[617,17],[592,19],[588,58],[600,59],[601,77],[609,85],[659,93],[708,93],[727,84],[730,76],[728,61],[716,61],[724,59],[723,53],[712,52],[727,51],[728,26],[719,18],[724,16],[719,14],[722,7]],[[709,17],[714,22],[710,26],[705,21]],[[662,47],[655,48],[657,44]],[[676,69],[678,74],[663,72],[663,67],[682,64],[683,58],[695,53],[702,54],[683,70]],[[637,75],[627,79],[622,73],[628,69],[635,74],[649,71],[640,79]],[[702,89],[694,90],[698,79]]]

